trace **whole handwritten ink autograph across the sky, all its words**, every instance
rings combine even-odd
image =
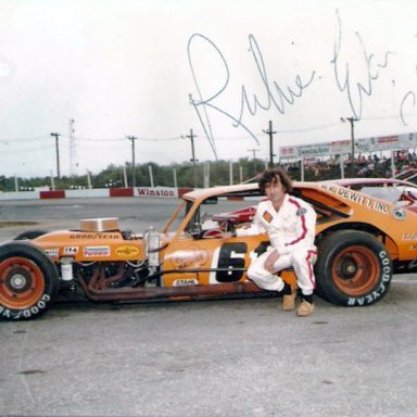
[[[365,71],[359,75],[354,75],[353,70],[357,71],[357,68],[343,55],[343,46],[346,41],[344,39],[342,21],[338,10],[336,10],[336,28],[333,51],[330,52],[330,64],[332,65],[336,85],[339,91],[345,94],[354,117],[361,119],[366,98],[372,96],[377,83],[381,81],[380,78],[383,73],[387,74],[384,70],[391,64],[393,55],[396,55],[396,53],[388,50],[380,59],[377,59],[374,53],[368,52],[361,34],[355,31],[361,54],[361,61],[355,61],[355,66],[364,66]],[[224,77],[215,80],[218,83],[218,87],[215,89],[214,93],[211,93],[207,97],[202,93],[202,91],[205,90],[204,79],[199,78],[195,71],[197,65],[193,51],[198,47],[198,42],[203,42],[205,47],[208,47],[208,49],[214,52],[214,63],[218,64],[224,70]],[[222,50],[214,43],[214,41],[201,34],[192,35],[188,42],[188,61],[197,89],[195,97],[189,94],[189,99],[198,114],[216,159],[215,135],[211,124],[211,116],[213,116],[213,114],[217,113],[223,115],[231,122],[233,127],[244,129],[245,132],[258,143],[257,138],[249,127],[249,118],[257,115],[260,111],[269,110],[276,110],[283,115],[289,106],[296,104],[296,101],[303,96],[304,91],[313,84],[313,81],[320,79],[320,77],[316,76],[316,71],[311,71],[305,77],[295,75],[292,87],[281,87],[277,80],[269,76],[261,48],[253,35],[249,35],[249,52],[255,64],[256,76],[261,79],[262,90],[253,92],[242,84],[239,92],[236,94],[240,101],[239,111],[237,114],[232,114],[232,112],[220,106],[218,100],[227,89],[230,90],[229,81],[231,76]],[[392,80],[392,83],[395,84],[395,80]],[[227,92],[229,93],[230,91]],[[403,125],[407,125],[405,110],[414,110],[416,106],[417,91],[409,90],[404,94],[400,105],[400,118]]]

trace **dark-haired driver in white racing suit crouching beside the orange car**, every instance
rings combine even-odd
[[[280,292],[282,309],[292,311],[296,293],[277,273],[293,267],[302,299],[296,315],[309,316],[314,312],[316,212],[305,201],[289,194],[292,182],[280,168],[265,170],[258,184],[267,200],[257,205],[251,226],[236,232],[237,236],[267,233],[270,245],[252,262],[248,277],[265,290]]]

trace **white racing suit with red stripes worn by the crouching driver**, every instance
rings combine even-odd
[[[252,225],[237,229],[237,236],[267,233],[270,241],[267,251],[252,262],[248,277],[265,290],[281,291],[282,279],[264,268],[266,258],[275,250],[279,254],[275,271],[292,266],[302,293],[312,294],[315,289],[313,265],[317,260],[315,226],[316,212],[301,199],[286,194],[278,212],[269,200],[262,201]]]

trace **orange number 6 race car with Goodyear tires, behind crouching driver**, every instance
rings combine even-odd
[[[325,300],[372,304],[394,273],[417,270],[417,213],[331,182],[295,182],[292,193],[317,213],[316,290]],[[239,219],[203,214],[217,207],[208,203],[227,200],[238,210],[262,199],[257,185],[195,190],[182,197],[162,231],[140,235],[121,230],[117,218],[28,231],[18,237],[26,240],[0,247],[0,317],[37,317],[68,292],[97,302],[270,295],[245,274],[267,237],[230,237],[225,231],[243,226]],[[281,274],[295,286],[292,270]]]

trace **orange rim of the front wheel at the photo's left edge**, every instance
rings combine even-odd
[[[41,269],[25,257],[11,257],[0,263],[0,304],[11,309],[28,308],[45,291]]]

